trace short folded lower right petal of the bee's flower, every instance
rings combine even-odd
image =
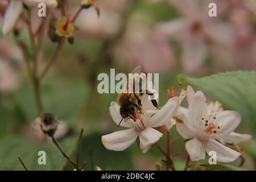
[[[162,133],[158,130],[148,127],[139,134],[139,146],[143,150],[143,153],[147,152],[150,147],[155,144],[161,137]]]

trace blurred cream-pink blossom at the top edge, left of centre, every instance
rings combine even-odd
[[[109,38],[109,36],[115,35],[122,20],[120,13],[125,9],[127,2],[127,0],[97,0],[101,10],[100,17],[92,8],[82,10],[75,22],[79,27],[80,34],[97,38]],[[80,1],[68,2],[68,7],[75,13],[79,4]]]

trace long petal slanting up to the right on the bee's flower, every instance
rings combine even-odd
[[[175,111],[177,110],[177,106],[179,104],[179,98],[173,97],[166,105],[164,105],[158,113],[153,115],[148,119],[147,123],[145,123],[149,127],[159,127],[165,125],[168,121],[172,119]]]

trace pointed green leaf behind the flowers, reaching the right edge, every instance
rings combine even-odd
[[[180,84],[189,84],[220,101],[226,109],[236,110],[242,119],[256,129],[256,72],[234,71],[195,78],[177,76]]]

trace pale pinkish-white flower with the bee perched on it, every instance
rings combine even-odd
[[[154,127],[164,126],[170,121],[177,109],[178,102],[179,99],[177,97],[171,98],[160,110],[155,110],[151,101],[144,95],[142,97],[142,114],[139,114],[141,119],[136,122],[132,119],[126,119],[120,126],[130,129],[104,135],[102,136],[102,143],[108,150],[122,151],[133,144],[139,137],[139,146],[143,152],[147,152],[163,135],[158,130],[155,130]],[[120,106],[117,102],[112,102],[109,110],[114,122],[118,125],[122,119],[119,114]],[[153,113],[155,114],[152,115]]]

